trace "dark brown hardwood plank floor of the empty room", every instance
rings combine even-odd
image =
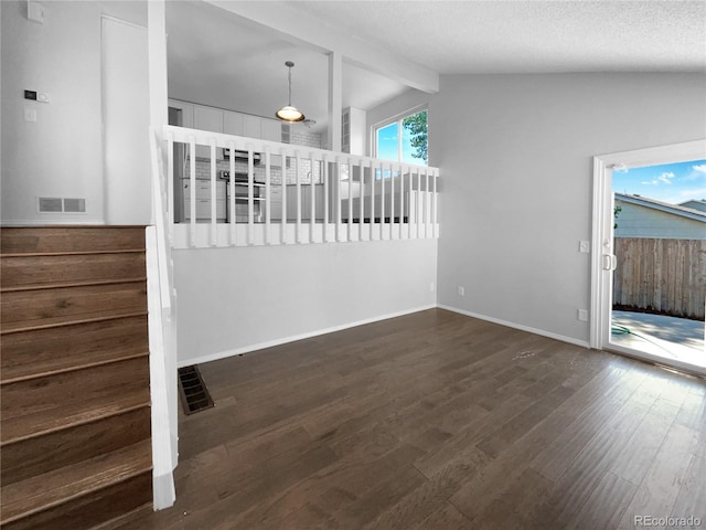
[[[118,528],[706,528],[699,379],[441,309],[200,368],[175,506]]]

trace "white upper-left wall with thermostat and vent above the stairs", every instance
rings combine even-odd
[[[100,15],[145,25],[145,2],[2,1],[2,212],[7,224],[101,223]],[[147,51],[145,52],[147,53]],[[51,103],[23,98],[46,92]],[[36,123],[24,109],[38,112]],[[38,197],[85,198],[86,214],[40,214]]]

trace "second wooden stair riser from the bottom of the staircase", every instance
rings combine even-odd
[[[143,406],[85,425],[2,447],[4,486],[69,466],[150,437],[150,409]]]

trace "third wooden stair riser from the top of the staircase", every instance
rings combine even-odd
[[[10,292],[3,293],[0,305],[3,322],[34,321],[36,325],[41,325],[42,319],[85,317],[95,312],[138,312],[147,307],[147,283]]]

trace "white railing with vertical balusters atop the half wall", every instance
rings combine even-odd
[[[438,236],[437,168],[174,126],[162,139],[175,248]]]

